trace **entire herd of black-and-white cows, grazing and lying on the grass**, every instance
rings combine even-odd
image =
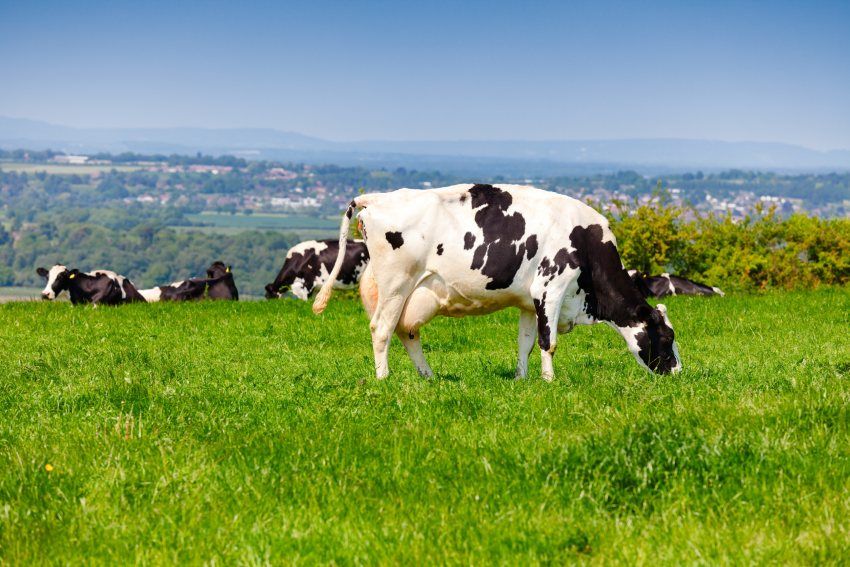
[[[363,240],[348,238],[355,211]],[[44,299],[68,291],[74,304],[239,298],[233,272],[222,262],[214,262],[206,277],[141,290],[108,270],[56,265],[37,271],[47,280]],[[536,341],[543,378],[551,380],[558,334],[593,323],[614,328],[647,369],[676,372],[682,363],[667,310],[646,298],[723,295],[667,273],[627,271],[605,217],[570,197],[517,185],[361,195],[342,218],[339,240],[292,247],[265,295],[291,293],[306,301],[320,288],[313,311],[321,313],[334,289],[358,284],[378,378],[389,373],[393,334],[419,373],[430,376],[419,341],[428,321],[507,307],[520,310],[517,377],[526,375]]]

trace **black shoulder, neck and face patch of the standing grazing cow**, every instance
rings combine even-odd
[[[577,262],[580,272],[578,287],[585,292],[585,312],[618,327],[643,324],[637,334],[641,360],[655,372],[669,372],[676,364],[673,353],[674,334],[661,312],[653,309],[623,269],[617,247],[602,242],[602,226],[577,226],[570,233],[575,252],[570,260]]]

